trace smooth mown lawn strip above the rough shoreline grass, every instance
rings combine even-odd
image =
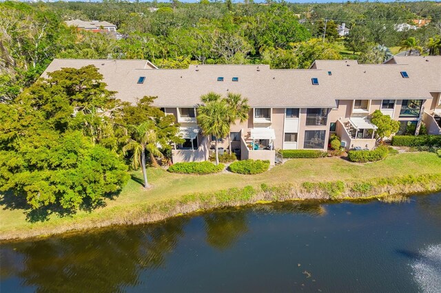
[[[27,230],[33,227],[57,226],[116,217],[123,211],[139,204],[153,204],[165,199],[176,199],[189,193],[205,193],[246,185],[259,186],[262,183],[276,185],[281,183],[324,182],[336,180],[367,180],[373,177],[392,177],[440,173],[441,159],[435,153],[400,153],[389,155],[381,162],[355,164],[340,158],[293,159],[281,166],[258,175],[238,175],[222,173],[212,175],[182,175],[168,173],[163,169],[148,169],[149,182],[153,188],[143,189],[141,172],[132,173],[132,179],[116,199],[107,199],[107,206],[92,213],[80,211],[68,217],[51,215],[45,222],[30,224],[25,220],[25,210],[0,209],[0,233],[10,230]]]

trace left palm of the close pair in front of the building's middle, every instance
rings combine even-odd
[[[225,138],[229,133],[229,107],[225,99],[220,99],[218,94],[209,93],[201,97],[205,105],[198,107],[199,127],[204,135],[214,135],[216,137],[216,164],[219,164],[218,138]]]

